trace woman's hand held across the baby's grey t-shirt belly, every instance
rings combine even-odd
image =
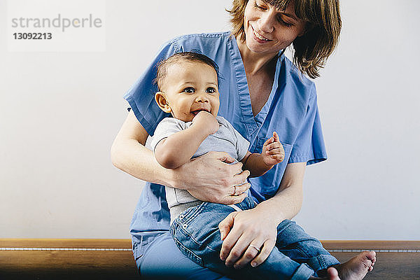
[[[174,169],[174,188],[188,190],[204,202],[236,204],[244,200],[251,185],[246,181],[248,170],[223,152],[209,152]]]

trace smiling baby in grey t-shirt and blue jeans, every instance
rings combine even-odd
[[[219,151],[235,159],[228,163],[242,162],[251,176],[261,176],[283,161],[284,150],[276,132],[265,141],[261,153],[250,153],[249,142],[225,118],[217,116],[218,66],[209,57],[195,52],[176,53],[160,62],[156,82],[160,91],[155,101],[162,111],[172,114],[172,118],[158,124],[151,141],[162,167],[175,169],[192,158]],[[233,211],[255,207],[254,200],[246,197],[235,205],[202,202],[187,190],[171,187],[166,187],[166,195],[176,246],[203,267],[244,279],[315,279],[326,276],[321,262],[339,269],[339,262],[321,242],[289,220],[282,222],[287,225],[277,232],[276,247],[261,265],[226,267],[219,257],[224,237],[218,225]],[[235,188],[232,195],[240,194]],[[253,248],[260,252],[260,248]]]

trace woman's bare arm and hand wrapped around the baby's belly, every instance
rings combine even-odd
[[[235,204],[244,200],[249,183],[240,185],[249,175],[241,163],[228,165],[227,153],[211,152],[195,158],[177,169],[165,169],[146,148],[148,133],[130,111],[111,148],[113,165],[128,174],[152,183],[188,190],[198,200]],[[232,195],[236,187],[237,193]]]

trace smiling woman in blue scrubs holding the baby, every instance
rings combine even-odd
[[[207,153],[174,170],[155,161],[145,144],[166,117],[154,102],[153,79],[160,60],[181,51],[214,59],[222,77],[219,114],[251,142],[251,152],[260,152],[275,130],[286,153],[281,164],[250,179],[258,206],[221,223],[227,234],[221,251],[226,265],[264,262],[274,247],[276,228],[300,211],[305,166],[326,159],[314,83],[302,73],[316,78],[335,48],[341,28],[338,0],[234,0],[230,13],[232,34],[192,34],[169,41],[125,95],[132,111],[111,156],[119,169],[151,182],[144,187],[131,225],[134,258],[145,279],[228,279],[196,265],[176,248],[168,233],[169,211],[161,185],[223,204],[241,202],[251,187],[244,183],[248,172],[242,172],[240,163],[223,162],[223,153]],[[297,67],[282,54],[289,45]],[[365,252],[336,268],[343,279],[363,279],[373,264],[374,252]],[[328,279],[339,279],[336,269],[328,269]]]

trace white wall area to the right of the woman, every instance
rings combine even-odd
[[[316,80],[329,160],[307,168],[297,221],[322,239],[420,240],[420,2],[341,3]]]

